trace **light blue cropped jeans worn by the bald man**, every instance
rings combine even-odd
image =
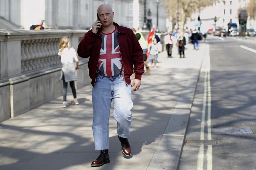
[[[108,149],[108,122],[112,100],[117,134],[124,138],[130,137],[133,108],[131,83],[125,83],[124,74],[113,77],[97,74],[95,86],[92,88],[92,132],[95,150]]]

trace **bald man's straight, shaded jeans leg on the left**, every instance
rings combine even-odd
[[[111,92],[108,78],[96,78],[92,88],[93,122],[92,131],[95,150],[108,149],[108,121],[111,107]]]

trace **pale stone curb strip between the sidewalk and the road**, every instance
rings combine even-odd
[[[205,56],[205,49],[206,46],[204,47],[203,56],[201,56],[199,69],[190,72],[185,88],[182,90],[179,101],[173,110],[147,170],[179,169],[188,120]]]

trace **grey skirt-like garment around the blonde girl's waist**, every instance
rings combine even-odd
[[[62,64],[60,80],[65,77],[65,82],[76,81],[76,67],[73,63]]]

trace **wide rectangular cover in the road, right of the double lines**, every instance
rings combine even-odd
[[[213,134],[253,134],[251,128],[213,128]]]

